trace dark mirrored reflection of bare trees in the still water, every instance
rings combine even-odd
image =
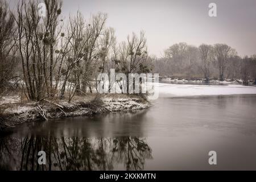
[[[38,164],[38,151],[47,164]],[[21,137],[0,138],[0,170],[143,170],[152,159],[146,139],[137,137]]]

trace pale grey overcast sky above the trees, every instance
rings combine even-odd
[[[210,2],[217,17],[208,16]],[[118,41],[144,30],[148,50],[161,56],[172,44],[226,43],[239,55],[256,53],[256,0],[64,0],[63,15],[107,13]]]

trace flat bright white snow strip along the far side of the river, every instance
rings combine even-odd
[[[159,96],[216,96],[256,94],[256,86],[243,85],[180,85],[159,83]]]

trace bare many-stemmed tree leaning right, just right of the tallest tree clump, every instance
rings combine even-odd
[[[65,59],[64,80],[60,98],[64,98],[65,87],[69,78],[70,81],[73,81],[73,86],[75,86],[75,89],[69,89],[72,92],[69,94],[69,100],[77,90],[85,93],[86,86],[89,86],[90,92],[92,92],[90,81],[93,77],[93,72],[96,70],[93,64],[98,58],[98,39],[102,34],[102,30],[104,30],[105,22],[105,14],[93,16],[92,23],[85,23],[85,19],[79,12],[74,18],[70,18],[68,38],[70,39],[69,47],[71,51]],[[82,89],[80,88],[81,85]]]

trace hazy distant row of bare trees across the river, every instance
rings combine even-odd
[[[160,76],[183,78],[242,79],[244,84],[256,79],[256,55],[240,57],[226,44],[199,47],[174,44],[164,56],[154,61],[154,72]]]

